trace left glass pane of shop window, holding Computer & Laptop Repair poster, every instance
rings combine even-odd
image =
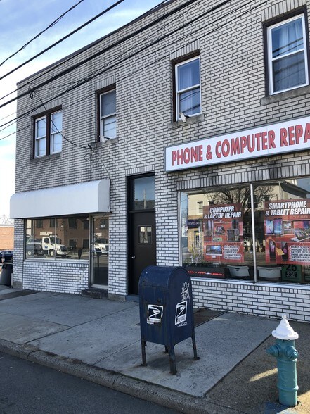
[[[249,197],[250,185],[181,194],[182,256],[190,275],[252,279]]]

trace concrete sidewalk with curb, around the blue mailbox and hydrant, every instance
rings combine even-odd
[[[310,413],[310,325],[299,333],[296,408],[276,403],[276,358],[266,354],[279,320],[224,313],[175,346],[148,342],[141,366],[138,303],[30,292],[0,285],[0,351],[63,370],[185,413]]]

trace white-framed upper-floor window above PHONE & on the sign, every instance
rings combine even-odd
[[[200,57],[175,65],[176,120],[201,113]]]

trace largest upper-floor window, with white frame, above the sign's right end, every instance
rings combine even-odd
[[[269,94],[308,84],[304,14],[267,27]]]

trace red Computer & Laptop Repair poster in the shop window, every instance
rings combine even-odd
[[[203,208],[204,258],[212,263],[242,263],[243,209],[241,203]]]

